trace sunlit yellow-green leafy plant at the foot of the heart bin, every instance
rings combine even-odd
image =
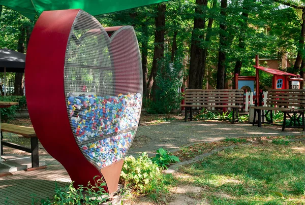
[[[157,202],[164,200],[164,194],[168,193],[166,185],[172,181],[170,176],[161,173],[158,165],[145,152],[138,158],[126,157],[120,176],[125,188],[147,194]]]

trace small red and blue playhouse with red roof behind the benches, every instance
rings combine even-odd
[[[241,89],[243,86],[248,86],[251,90],[256,91],[256,100],[260,102],[260,93],[262,90],[259,89],[259,71],[264,71],[270,74],[273,74],[272,77],[272,89],[289,89],[289,81],[291,81],[292,89],[300,89],[300,82],[303,81],[299,75],[287,73],[284,71],[270,69],[268,67],[259,66],[259,57],[255,56],[255,71],[256,76],[239,76],[235,74],[234,76],[234,84],[236,89]],[[256,82],[256,86],[254,89],[254,82]],[[248,90],[249,91],[249,90]]]

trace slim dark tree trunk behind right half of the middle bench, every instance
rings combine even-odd
[[[228,39],[226,35],[227,25],[226,25],[226,16],[227,16],[227,0],[221,0],[220,5],[220,31],[219,31],[219,54],[218,54],[218,66],[217,66],[217,89],[225,88],[225,75],[226,75],[226,52],[225,49],[228,44]]]

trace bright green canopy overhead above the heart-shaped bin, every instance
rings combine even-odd
[[[169,0],[0,0],[0,5],[20,12],[29,19],[43,11],[82,9],[91,15],[106,14]]]

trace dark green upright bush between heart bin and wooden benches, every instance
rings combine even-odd
[[[156,81],[158,89],[156,100],[151,101],[148,113],[170,114],[175,109],[179,109],[182,100],[182,93],[178,92],[181,87],[181,62],[175,60],[173,63],[169,57],[159,61],[159,70]]]

